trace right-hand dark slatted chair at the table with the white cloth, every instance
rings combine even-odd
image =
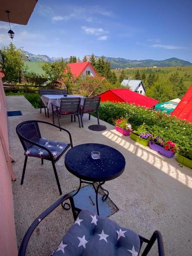
[[[99,96],[84,98],[84,104],[83,104],[83,106],[80,106],[80,117],[81,117],[82,127],[83,127],[82,116],[84,113],[89,114],[89,120],[91,119],[91,113],[96,113],[97,114],[97,122],[99,124],[98,110],[99,110],[100,101],[101,101],[101,98]]]

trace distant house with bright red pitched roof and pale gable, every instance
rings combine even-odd
[[[96,71],[94,70],[91,62],[76,62],[76,63],[68,63],[68,66],[71,69],[71,73],[74,74],[76,77],[80,75],[90,75],[90,76],[97,76]]]

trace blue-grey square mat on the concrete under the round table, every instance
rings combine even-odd
[[[96,183],[95,183],[96,185]],[[71,195],[74,195],[77,190],[71,192]],[[112,214],[115,214],[119,209],[112,202],[112,200],[108,197],[104,202],[102,201],[103,195],[106,195],[104,191],[99,188],[98,191],[98,206],[99,206],[99,216],[100,217],[109,217]],[[96,207],[96,193],[93,186],[90,184],[88,186],[84,186],[79,190],[79,193],[74,196],[75,207],[79,209],[87,209],[94,212],[97,215],[97,207]]]

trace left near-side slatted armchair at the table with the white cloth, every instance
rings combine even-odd
[[[54,105],[53,103],[51,103],[53,123],[55,123],[54,113],[57,114],[59,127],[60,127],[59,119],[61,118],[61,116],[71,115],[71,121],[73,121],[73,116],[74,116],[74,120],[75,120],[75,116],[78,117],[79,127],[81,127],[80,117],[79,117],[80,101],[81,101],[81,98],[79,98],[79,97],[71,97],[71,98],[61,98],[60,106],[57,106],[57,105]]]

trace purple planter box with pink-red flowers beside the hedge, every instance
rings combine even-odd
[[[177,151],[177,146],[173,141],[165,141],[159,136],[150,138],[150,148],[167,158],[173,157]]]

